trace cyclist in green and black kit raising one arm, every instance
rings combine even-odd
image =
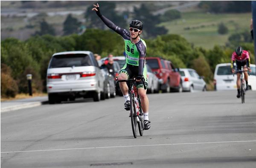
[[[141,98],[141,105],[144,112],[144,129],[149,129],[151,122],[148,120],[148,106],[149,101],[146,95],[146,91],[143,88],[142,80],[145,78],[145,85],[147,87],[147,70],[145,67],[145,56],[146,56],[146,43],[143,39],[140,38],[142,34],[143,24],[139,20],[132,20],[130,22],[129,31],[124,28],[116,26],[113,22],[108,20],[103,16],[99,11],[99,4],[93,5],[93,11],[96,11],[96,14],[99,18],[113,31],[121,35],[125,40],[125,60],[126,64],[119,71],[118,79],[126,80],[133,78],[135,76],[137,81],[138,93]],[[125,109],[130,110],[130,97],[128,95],[128,86],[126,82],[119,83],[122,94],[125,98]]]

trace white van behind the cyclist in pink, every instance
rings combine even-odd
[[[235,64],[236,65],[236,64]],[[250,64],[252,72],[248,78],[248,85],[251,90],[256,90],[255,64]],[[236,75],[231,72],[231,63],[217,64],[214,72],[215,90],[236,90]]]

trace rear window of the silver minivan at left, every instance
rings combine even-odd
[[[92,66],[86,54],[64,54],[52,57],[49,68]]]

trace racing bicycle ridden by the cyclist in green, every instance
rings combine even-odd
[[[144,89],[145,79],[142,79]],[[118,82],[127,82],[130,95],[130,117],[131,117],[131,128],[134,138],[137,138],[138,128],[140,136],[143,136],[144,123],[143,123],[143,110],[140,103],[140,95],[138,94],[136,80],[134,78],[128,80],[119,80]]]

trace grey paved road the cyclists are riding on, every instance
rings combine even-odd
[[[123,98],[1,113],[2,168],[255,168],[256,92],[151,94],[134,139]]]

